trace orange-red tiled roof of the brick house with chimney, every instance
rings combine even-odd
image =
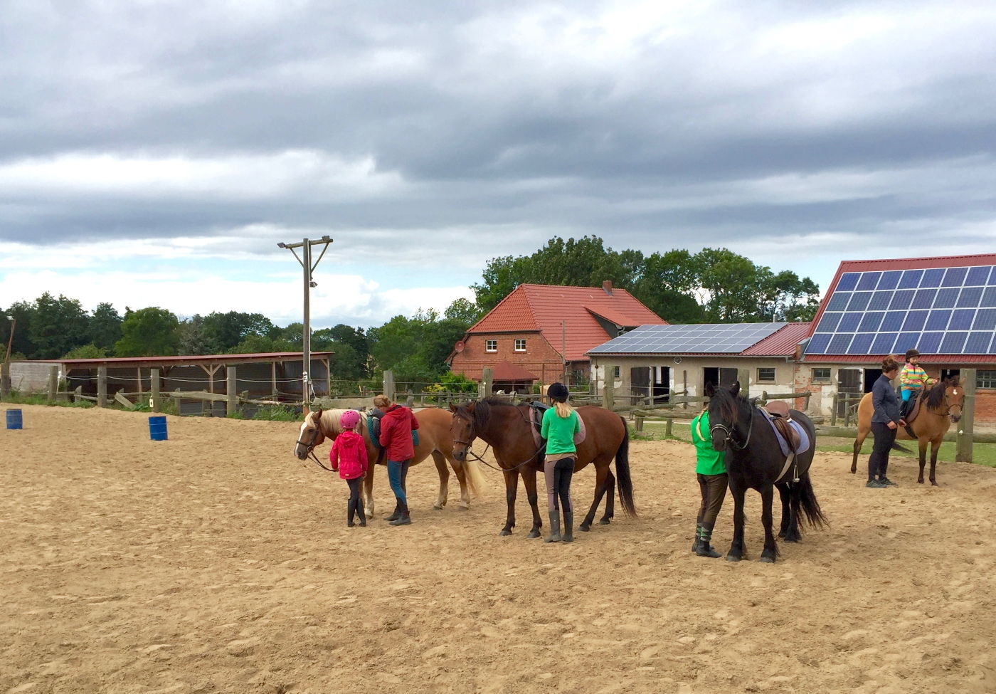
[[[539,331],[568,361],[587,361],[585,352],[616,337],[593,313],[624,327],[667,324],[625,289],[520,284],[467,333]]]

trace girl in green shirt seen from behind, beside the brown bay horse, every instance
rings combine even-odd
[[[547,510],[550,513],[548,542],[574,541],[574,507],[571,506],[571,477],[577,448],[574,437],[581,430],[578,413],[568,405],[567,386],[552,383],[547,397],[553,407],[543,413],[540,436],[547,441],[543,472],[547,482]],[[557,502],[560,501],[560,506]],[[564,535],[561,536],[560,510],[564,510]]]

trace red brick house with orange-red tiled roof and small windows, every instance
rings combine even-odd
[[[639,325],[666,321],[624,289],[520,284],[472,325],[448,358],[450,370],[494,389],[532,392],[534,383],[587,380],[588,352]]]

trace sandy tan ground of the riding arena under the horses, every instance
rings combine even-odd
[[[893,459],[900,486],[867,490],[819,454],[833,525],[762,564],[751,493],[732,563],[689,551],[676,442],[631,445],[639,518],[547,544],[521,492],[498,536],[492,471],[469,511],[452,477],[433,511],[436,472],[413,468],[414,522],[390,527],[378,468],[375,518],[347,528],[295,423],[169,417],[153,442],[147,415],[21,409],[0,430],[0,693],[996,691],[996,470],[942,464],[930,488]]]

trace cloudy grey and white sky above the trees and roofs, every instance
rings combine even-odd
[[[0,308],[312,320],[472,297],[559,235],[996,250],[996,4],[0,0]]]

